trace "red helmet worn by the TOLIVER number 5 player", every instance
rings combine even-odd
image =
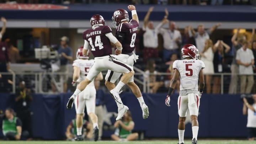
[[[193,44],[187,44],[181,49],[181,54],[183,58],[191,57],[193,59],[200,59],[198,54],[198,49]]]

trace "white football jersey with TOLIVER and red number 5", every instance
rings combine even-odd
[[[180,90],[198,91],[199,72],[205,65],[202,60],[183,59],[175,60],[172,68],[180,73]]]

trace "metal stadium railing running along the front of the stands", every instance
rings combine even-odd
[[[135,74],[134,74],[134,81],[135,83],[140,87],[142,92],[149,93],[150,92],[150,86],[149,86],[149,79],[145,79],[145,72],[134,67]],[[72,80],[72,72],[67,73],[60,73],[60,72],[11,72],[11,73],[0,73],[2,75],[2,80],[0,82],[0,89],[7,90],[9,89],[9,92],[15,93],[16,92],[16,86],[18,86],[18,83],[23,80],[26,82],[26,86],[30,87],[34,93],[42,93],[42,94],[49,94],[49,90],[52,84],[56,86],[57,92],[63,92],[63,79],[61,76],[68,75],[69,80]],[[102,73],[103,76],[106,75],[106,72]],[[166,76],[170,76],[170,73],[150,73],[150,75],[156,75],[160,77],[160,81],[163,81],[166,85],[166,87],[162,86],[162,89],[160,88],[161,92],[167,92],[169,87],[170,79],[166,79]],[[213,77],[218,76],[220,78],[220,83],[217,83],[217,85],[220,85],[220,91],[219,94],[227,94],[229,89],[229,84],[231,80],[231,73],[215,73],[212,75],[212,86],[214,84]],[[239,75],[238,75],[239,76]],[[256,74],[254,74],[256,76]],[[105,78],[105,77],[104,77]],[[5,79],[5,80],[4,80]],[[8,84],[7,80],[12,81],[12,84]],[[69,83],[68,83],[69,84]],[[216,82],[215,82],[216,84]],[[239,83],[239,77],[238,77],[238,86],[237,89],[240,90],[240,83]],[[2,91],[0,90],[0,91]]]

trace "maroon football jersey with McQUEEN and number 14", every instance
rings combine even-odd
[[[109,26],[99,26],[86,30],[83,33],[83,38],[90,44],[91,52],[94,57],[103,57],[112,54],[111,43],[106,33],[110,33]]]

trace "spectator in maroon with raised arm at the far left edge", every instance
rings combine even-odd
[[[6,19],[1,17],[1,21],[3,22],[2,29],[0,31],[0,71],[7,72],[9,69],[9,57],[8,57],[8,49],[5,42],[2,42],[2,36],[6,30]]]

